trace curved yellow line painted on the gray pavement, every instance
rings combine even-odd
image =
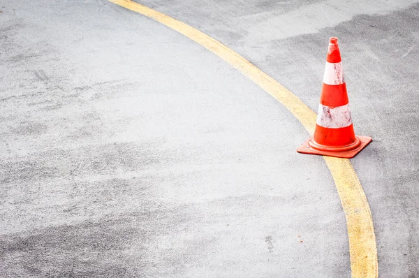
[[[109,0],[119,6],[133,10],[145,15],[157,22],[160,22],[180,34],[190,38],[192,41],[203,45],[224,61],[251,79],[268,94],[276,98],[302,123],[310,134],[314,133],[316,124],[316,113],[305,105],[300,98],[297,98],[284,86],[279,84],[269,75],[260,71],[247,59],[231,50],[226,45],[214,40],[201,31],[190,27],[179,20],[160,13],[131,0]],[[351,254],[352,277],[378,277],[378,260],[376,250],[376,239],[372,215],[365,193],[358,177],[353,170],[351,161],[348,159],[337,159],[323,156],[328,165],[342,207],[346,216],[346,224],[349,237],[349,252]]]

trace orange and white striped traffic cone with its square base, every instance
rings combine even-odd
[[[314,136],[297,152],[350,159],[372,141],[355,136],[337,38],[330,38]]]

